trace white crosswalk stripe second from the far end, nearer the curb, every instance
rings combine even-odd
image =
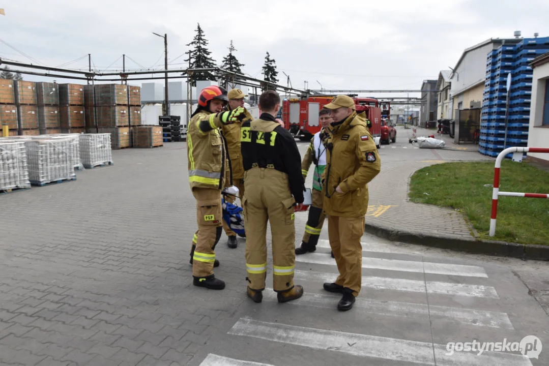
[[[302,263],[335,264],[333,258],[324,253],[308,253],[306,256],[296,256],[295,261]],[[484,268],[477,266],[464,266],[463,264],[401,261],[386,258],[362,257],[362,268],[488,278]]]

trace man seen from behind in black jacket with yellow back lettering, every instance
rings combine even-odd
[[[262,114],[244,122],[240,143],[244,164],[247,294],[261,302],[267,274],[267,221],[271,224],[273,289],[278,302],[295,300],[303,288],[294,285],[294,205],[303,202],[305,184],[294,137],[276,121],[280,96],[266,91],[259,98]],[[293,196],[292,196],[293,195]]]

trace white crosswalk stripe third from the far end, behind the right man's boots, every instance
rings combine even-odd
[[[333,282],[337,273],[325,273],[315,271],[301,271],[296,269],[295,277],[306,281]],[[486,297],[489,299],[499,299],[496,289],[492,286],[469,285],[460,283],[440,282],[440,281],[419,281],[402,278],[362,276],[362,288],[374,290],[393,290],[406,292],[421,292],[425,290],[429,294],[465,296],[465,297]]]

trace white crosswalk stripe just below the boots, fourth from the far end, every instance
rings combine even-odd
[[[333,308],[339,301],[341,295],[334,294],[311,294],[305,292],[298,301],[290,301],[291,305],[313,306],[321,308]],[[263,291],[263,300],[277,301],[276,292],[271,288]],[[456,308],[447,306],[427,306],[411,302],[379,301],[358,296],[355,306],[357,311],[363,313],[379,314],[392,317],[413,318],[417,316],[428,317],[439,316],[454,322],[472,325],[486,326],[488,328],[514,329],[507,313],[483,311],[467,308]]]

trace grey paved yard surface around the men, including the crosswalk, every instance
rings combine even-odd
[[[368,219],[394,226],[424,212],[397,211],[401,201],[393,201],[403,196],[408,165],[473,154],[416,150],[404,132],[380,151],[383,172],[371,185],[372,205],[400,208],[376,207],[378,217]],[[326,232],[317,253],[297,263],[306,296],[284,305],[270,291],[262,304],[247,299],[244,241],[231,250],[223,235],[216,275],[226,289],[194,288],[188,250],[195,211],[184,147],[114,151],[114,166],[79,172],[75,182],[0,196],[0,365],[549,363],[546,263],[366,234],[363,290],[352,311],[339,313],[339,298],[322,290],[337,273]],[[407,175],[386,178],[391,170]],[[305,221],[306,213],[296,214],[296,241]],[[445,354],[447,342],[527,335],[546,345],[539,359]]]

